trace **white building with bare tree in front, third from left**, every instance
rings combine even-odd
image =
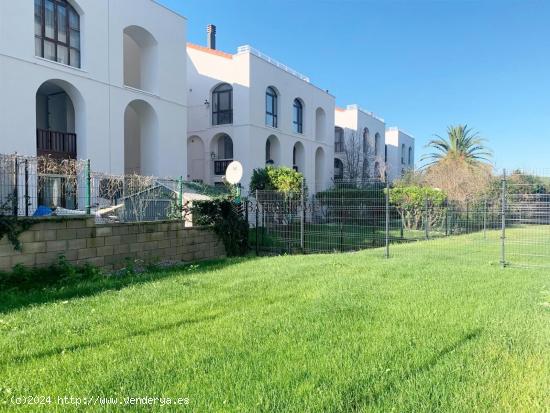
[[[336,108],[334,179],[377,179],[385,170],[384,119],[357,105]]]

